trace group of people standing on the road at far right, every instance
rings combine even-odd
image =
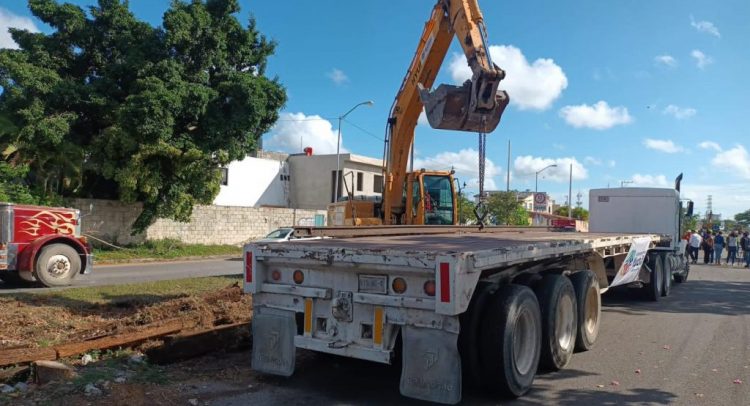
[[[703,250],[703,263],[721,265],[721,255],[727,249],[725,264],[729,266],[745,264],[750,268],[750,237],[745,231],[732,231],[724,236],[721,231],[702,230],[701,233],[691,230],[683,237],[688,241],[688,254],[692,263],[698,263],[698,252]]]

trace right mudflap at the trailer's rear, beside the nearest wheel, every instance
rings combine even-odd
[[[461,358],[458,334],[404,326],[401,394],[430,402],[461,400]]]

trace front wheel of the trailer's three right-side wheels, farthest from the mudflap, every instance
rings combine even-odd
[[[578,307],[578,328],[576,350],[588,351],[594,348],[599,336],[599,323],[602,313],[602,298],[599,295],[599,281],[591,270],[576,272],[570,276],[576,292]]]

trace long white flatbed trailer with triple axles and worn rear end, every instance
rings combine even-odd
[[[592,348],[600,294],[618,273],[663,281],[651,274],[666,274],[671,243],[538,227],[297,233],[337,237],[244,249],[253,368],[290,376],[296,348],[386,364],[400,357],[403,395],[448,404],[465,384],[521,396],[540,362],[559,369],[574,349]]]

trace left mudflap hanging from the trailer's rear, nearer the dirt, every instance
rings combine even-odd
[[[294,312],[256,307],[252,324],[252,368],[267,374],[291,376],[296,362]]]

